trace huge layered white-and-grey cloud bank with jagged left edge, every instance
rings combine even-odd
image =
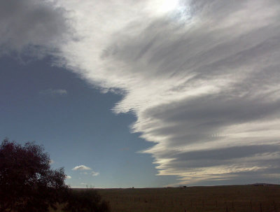
[[[57,2],[62,28],[42,41],[55,41],[58,64],[123,93],[113,111],[136,115],[132,132],[155,142],[143,153],[158,174],[190,184],[280,177],[278,0]],[[59,43],[67,24],[78,39]]]

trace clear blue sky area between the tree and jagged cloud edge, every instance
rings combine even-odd
[[[1,63],[1,137],[20,143],[36,141],[64,167],[72,187],[161,187],[174,177],[155,176],[151,155],[137,151],[151,146],[131,134],[132,114],[112,113],[117,94],[102,94],[51,60],[22,64],[13,57]],[[56,93],[65,90],[66,93]],[[73,171],[84,164],[92,170]],[[98,172],[92,176],[92,171]]]

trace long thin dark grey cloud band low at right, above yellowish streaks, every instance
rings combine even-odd
[[[273,147],[273,146],[272,146]],[[238,148],[224,148],[221,150],[209,150],[209,151],[195,151],[191,153],[181,153],[179,155],[172,155],[176,159],[168,164],[165,164],[164,169],[172,169],[172,170],[184,170],[184,171],[194,171],[200,168],[208,169],[211,167],[228,167],[230,168],[232,165],[234,166],[244,166],[244,167],[265,167],[265,170],[262,172],[265,174],[269,174],[270,168],[274,167],[274,169],[278,169],[279,171],[279,148],[276,150],[272,148],[268,149],[259,149],[255,150],[253,148],[248,147],[240,147],[241,153],[237,152]],[[230,152],[233,151],[233,152]],[[230,154],[228,154],[230,152]],[[227,155],[228,154],[228,155]],[[275,157],[278,155],[278,158],[266,159],[263,160],[261,156],[270,156]],[[227,157],[228,156],[228,157]],[[168,155],[167,155],[168,157]],[[253,158],[253,159],[250,159]],[[273,170],[274,170],[273,169]],[[244,171],[243,171],[244,172]],[[242,172],[242,173],[243,173]],[[250,171],[248,171],[250,172]],[[232,171],[231,174],[238,174],[239,172]],[[273,173],[273,172],[272,172]]]

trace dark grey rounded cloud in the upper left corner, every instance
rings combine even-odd
[[[51,1],[1,0],[0,53],[25,50],[38,54],[46,51],[44,48],[57,48],[71,31],[66,13]],[[36,50],[38,47],[42,49]]]

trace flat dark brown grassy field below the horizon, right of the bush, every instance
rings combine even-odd
[[[112,212],[280,211],[280,186],[99,189]]]

